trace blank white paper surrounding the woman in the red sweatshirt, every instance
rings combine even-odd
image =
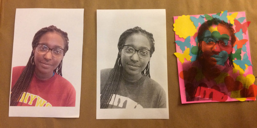
[[[35,33],[54,25],[68,33],[69,50],[63,58],[62,77],[76,90],[75,107],[9,106],[9,116],[78,118],[80,108],[84,9],[16,9],[12,68],[26,66]],[[7,42],[5,42],[7,43]]]

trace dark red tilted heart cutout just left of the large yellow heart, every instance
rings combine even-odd
[[[240,81],[234,81],[231,76],[226,76],[224,82],[228,92],[237,91],[243,88],[243,84]]]

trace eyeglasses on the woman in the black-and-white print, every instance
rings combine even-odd
[[[141,59],[148,59],[150,57],[150,50],[147,49],[139,49],[136,50],[135,48],[128,46],[128,45],[122,45],[123,47],[123,54],[126,56],[133,56],[135,52],[137,52],[137,55]]]

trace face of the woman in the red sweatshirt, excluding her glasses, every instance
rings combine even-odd
[[[47,32],[41,36],[40,44],[46,45],[49,48],[65,48],[64,40],[62,36],[57,32]],[[52,75],[53,70],[57,68],[63,55],[60,58],[52,56],[52,50],[49,50],[46,54],[39,54],[34,48],[34,61],[35,61],[35,72],[37,74]]]

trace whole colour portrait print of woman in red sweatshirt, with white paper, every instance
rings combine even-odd
[[[78,118],[84,9],[16,9],[9,116]]]

